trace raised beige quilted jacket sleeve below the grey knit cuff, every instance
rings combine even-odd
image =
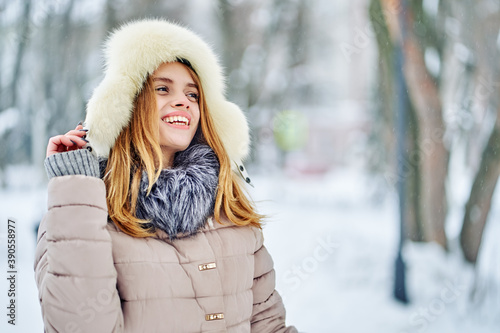
[[[38,231],[35,277],[46,332],[121,332],[105,186],[83,175],[54,177]]]

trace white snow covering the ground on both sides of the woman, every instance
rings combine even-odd
[[[398,237],[394,195],[373,200],[373,182],[347,170],[304,179],[254,175],[253,182],[250,193],[268,215],[265,244],[275,262],[287,321],[301,332],[499,331],[500,195],[485,235],[479,278],[474,280],[474,270],[462,261],[453,241],[449,255],[433,244],[409,243],[404,255],[411,303],[402,305],[391,296]],[[0,191],[2,271],[9,217],[18,227],[19,256],[17,325],[7,325],[2,314],[0,332],[43,331],[33,252],[34,227],[45,211],[46,193],[29,184],[25,179]],[[471,298],[474,285],[477,292]],[[6,291],[2,277],[3,312]]]

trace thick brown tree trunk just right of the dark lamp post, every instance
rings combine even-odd
[[[414,13],[407,8],[407,27],[413,27]],[[417,114],[419,128],[418,153],[421,179],[421,212],[426,241],[447,248],[444,229],[447,203],[445,181],[448,172],[448,151],[443,143],[444,122],[437,83],[430,75],[413,29],[406,29],[403,40],[404,73],[408,92]],[[411,152],[410,152],[411,158]]]

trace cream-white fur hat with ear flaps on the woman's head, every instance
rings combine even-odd
[[[229,158],[248,154],[248,124],[224,97],[224,77],[210,47],[195,33],[164,20],[141,20],[114,31],[105,44],[105,77],[87,104],[85,126],[98,156],[107,157],[130,122],[133,102],[148,75],[162,63],[186,59],[198,74],[205,99]]]

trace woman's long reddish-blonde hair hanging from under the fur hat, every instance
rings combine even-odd
[[[239,184],[240,180],[231,170],[231,161],[215,130],[198,76],[189,66],[183,65],[199,89],[201,134],[196,139],[212,148],[220,164],[214,218],[221,223],[221,216],[224,214],[236,225],[260,228],[263,216],[257,214]],[[148,176],[149,194],[161,169],[158,111],[152,78],[149,76],[134,101],[134,112],[129,125],[121,131],[111,149],[105,169],[109,216],[123,232],[134,237],[149,237],[155,233],[154,229],[146,227],[149,221],[139,219],[135,211],[142,172],[146,171]]]

